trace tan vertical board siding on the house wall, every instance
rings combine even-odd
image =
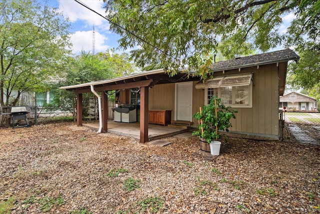
[[[279,64],[280,66],[281,64]],[[281,65],[282,66],[282,65]],[[285,65],[284,65],[285,66]],[[230,131],[278,136],[278,67],[276,64],[241,69],[240,73],[252,72],[252,108],[235,108],[236,119],[231,119]],[[239,74],[238,70],[226,72]],[[216,72],[215,75],[225,75]],[[204,105],[204,89],[195,89],[193,82],[192,115]],[[155,85],[149,89],[149,109],[171,109],[174,119],[175,84]],[[192,117],[192,127],[198,121]]]

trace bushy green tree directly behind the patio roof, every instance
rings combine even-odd
[[[105,53],[97,53],[92,55],[82,51],[80,55],[69,57],[64,74],[61,76],[61,81],[55,84],[55,87],[77,85],[98,80],[106,80],[123,75],[129,75],[136,72],[137,69],[131,63],[128,54],[115,54],[113,50]],[[54,103],[56,106],[63,106],[66,111],[73,113],[75,117],[76,95],[67,90],[56,89]],[[108,99],[114,100],[114,91],[109,91]],[[92,94],[83,94],[83,106],[88,106],[89,97]],[[86,114],[84,109],[84,115]]]

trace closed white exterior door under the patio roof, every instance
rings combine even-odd
[[[175,83],[175,120],[192,121],[192,82]]]

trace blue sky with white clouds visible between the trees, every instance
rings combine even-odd
[[[102,16],[105,15],[102,0],[80,0],[92,10],[98,12]],[[89,11],[83,6],[79,5],[73,0],[48,0],[50,6],[58,8],[58,10],[68,17],[71,22],[70,36],[71,43],[73,44],[72,52],[78,54],[81,50],[85,52],[92,52],[92,31],[94,26],[94,53],[105,52],[107,49],[117,48],[117,40],[120,38],[117,34],[109,31],[109,23],[107,20]],[[279,32],[285,32],[287,26],[294,18],[294,14],[287,14],[282,17],[283,24],[279,26]],[[270,51],[283,49],[279,46]],[[126,52],[129,50],[125,50]],[[124,52],[118,50],[116,52]]]

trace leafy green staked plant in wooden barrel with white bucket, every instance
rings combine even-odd
[[[201,150],[211,151],[211,154],[219,155],[221,142],[218,139],[222,137],[226,139],[225,134],[219,131],[229,131],[228,128],[232,126],[230,119],[235,119],[235,113],[237,113],[237,110],[231,109],[230,106],[224,106],[221,99],[214,96],[208,105],[200,107],[200,111],[193,115],[198,120],[199,126],[198,130],[192,132],[192,135],[200,138]],[[218,151],[212,151],[214,147]]]

